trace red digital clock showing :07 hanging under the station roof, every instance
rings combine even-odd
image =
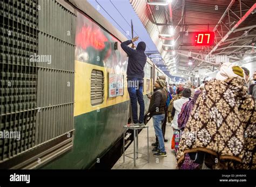
[[[214,32],[181,32],[183,46],[211,46],[214,44]]]

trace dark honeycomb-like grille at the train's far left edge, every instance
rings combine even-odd
[[[36,0],[0,4],[0,132],[10,135],[0,137],[1,169],[3,162],[35,146],[37,65],[29,56],[38,50],[38,22]]]

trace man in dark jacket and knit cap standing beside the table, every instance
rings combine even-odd
[[[150,96],[149,112],[153,118],[154,132],[158,138],[158,146],[152,152],[154,156],[167,156],[164,147],[164,136],[161,126],[165,117],[166,93],[164,91],[165,81],[158,79],[154,84],[154,93]]]

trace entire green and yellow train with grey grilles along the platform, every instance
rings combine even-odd
[[[31,128],[26,128],[29,125],[26,122],[17,124],[17,129],[24,132],[22,142],[0,142],[0,154],[3,155],[0,168],[111,168],[122,154],[123,126],[131,116],[126,81],[127,55],[120,47],[120,42],[127,38],[86,1],[24,3],[35,11],[36,7],[41,8],[37,11],[38,27],[35,27],[37,47],[31,48],[30,54],[50,54],[53,61],[24,65],[29,69],[25,69],[26,74],[35,74],[33,81],[37,82],[37,91],[33,92],[35,99],[31,100],[34,105],[28,109],[32,111],[28,116],[33,121],[30,121]],[[146,94],[152,93],[157,76],[166,75],[149,59],[144,71],[146,113],[149,106]],[[18,80],[15,74],[13,76],[12,80]],[[3,86],[1,89],[9,88]],[[20,114],[24,112],[15,110]],[[12,113],[2,110],[2,124],[12,123],[8,115]],[[2,130],[15,129],[7,127],[2,125]]]

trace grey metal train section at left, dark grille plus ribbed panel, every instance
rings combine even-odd
[[[0,137],[0,169],[39,168],[70,150],[73,145],[75,34],[72,34],[72,41],[70,36],[60,39],[49,28],[52,28],[53,18],[55,23],[66,23],[65,26],[69,28],[76,25],[76,18],[56,1],[1,1],[0,4],[3,7],[0,15],[3,20],[0,24],[0,46],[3,48],[0,52],[0,132],[9,134],[9,138]],[[37,9],[39,5],[41,11]],[[56,10],[57,13],[53,14]],[[64,28],[63,25],[58,27]],[[57,45],[60,43],[62,46]],[[44,67],[44,63],[30,61],[31,55],[49,54],[50,49],[46,50],[49,46],[63,49],[58,53],[55,51],[56,56],[65,53],[70,59],[65,56],[66,63],[63,63],[58,58],[54,63],[55,66],[57,64],[55,68],[50,67],[51,64]],[[52,88],[56,83],[50,79],[53,74],[55,80],[63,75],[70,81],[70,88],[66,84],[63,86],[68,90],[67,95],[58,96],[57,92],[53,92],[55,90],[45,87]],[[41,90],[46,90],[44,93],[48,95],[43,96],[47,99],[39,99],[42,98]],[[53,99],[54,94],[51,93],[56,93],[56,98],[62,100]],[[49,95],[56,101],[55,104],[48,103]],[[39,163],[37,158],[44,162]]]

